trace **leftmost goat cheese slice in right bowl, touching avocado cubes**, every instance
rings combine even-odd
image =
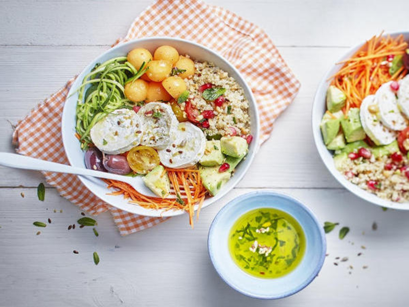
[[[376,145],[387,145],[395,140],[396,133],[385,127],[378,119],[378,106],[374,95],[362,100],[359,117],[363,130]]]

